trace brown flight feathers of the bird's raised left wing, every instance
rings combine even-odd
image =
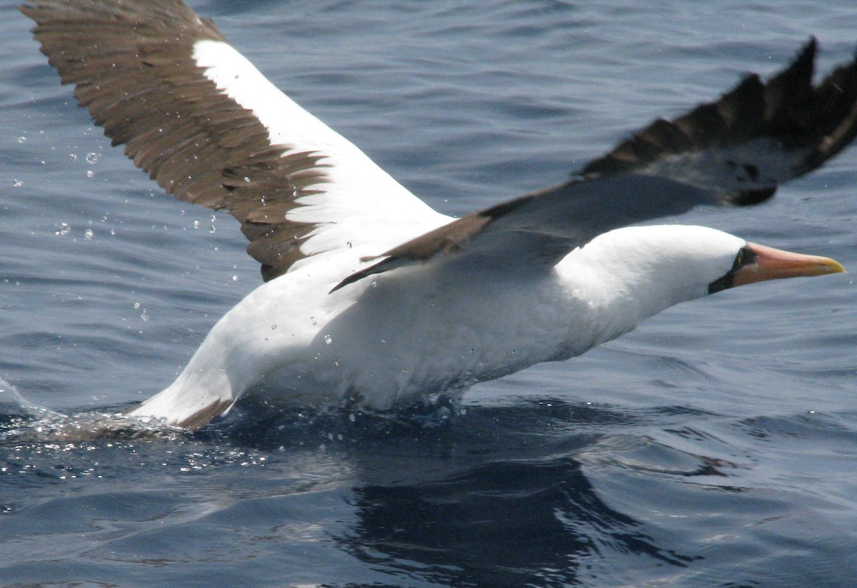
[[[219,92],[193,60],[196,41],[225,41],[178,0],[34,0],[21,12],[63,84],[113,145],[178,199],[242,223],[266,280],[300,258],[315,223],[285,220],[325,169],[312,153],[280,157],[267,128]]]

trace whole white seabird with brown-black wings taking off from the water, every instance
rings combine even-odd
[[[196,428],[248,390],[386,409],[566,359],[668,306],[842,271],[715,229],[629,226],[752,205],[857,134],[857,63],[816,41],[764,82],[658,119],[570,181],[454,219],[274,87],[181,0],[21,7],[63,83],[168,193],[241,223],[264,283],[175,383],[129,410]]]

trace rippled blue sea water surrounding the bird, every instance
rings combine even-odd
[[[822,70],[857,40],[852,0],[193,6],[455,215],[561,181],[810,34]],[[0,585],[857,585],[853,273],[675,307],[428,419],[239,407],[194,435],[78,435],[171,383],[260,278],[231,217],[111,149],[29,27],[3,3],[0,377],[61,414],[0,394]],[[857,148],[681,222],[857,271]]]

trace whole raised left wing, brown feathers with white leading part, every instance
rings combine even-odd
[[[178,199],[230,211],[266,280],[316,253],[451,220],[279,92],[181,0],[33,0],[21,11],[113,145]]]

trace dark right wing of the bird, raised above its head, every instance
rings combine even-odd
[[[767,83],[658,119],[557,187],[462,217],[381,253],[371,274],[456,256],[553,266],[610,229],[696,205],[752,205],[833,157],[857,134],[857,57],[812,85],[815,39]]]

